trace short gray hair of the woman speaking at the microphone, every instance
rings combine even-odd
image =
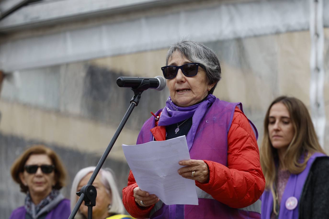
[[[181,40],[169,48],[166,55],[166,65],[168,65],[168,60],[175,51],[181,52],[191,62],[201,64],[200,67],[205,70],[209,84],[215,83],[215,86],[208,92],[208,94],[212,94],[221,78],[220,64],[215,52],[202,43]]]

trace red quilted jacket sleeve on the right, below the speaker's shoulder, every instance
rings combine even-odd
[[[256,202],[265,189],[256,137],[246,116],[235,109],[228,132],[227,166],[204,161],[209,182],[196,186],[231,208],[244,208]]]

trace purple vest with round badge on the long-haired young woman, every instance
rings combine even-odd
[[[287,182],[287,186],[285,191],[282,195],[282,200],[280,203],[280,212],[279,212],[279,219],[298,219],[299,213],[299,201],[300,196],[303,191],[303,187],[306,181],[306,178],[309,174],[309,171],[312,167],[313,162],[316,160],[317,157],[324,157],[326,155],[321,153],[314,153],[310,159],[307,161],[306,167],[303,172],[299,174],[291,174],[289,180]],[[294,198],[293,198],[294,197]],[[295,199],[296,198],[296,199]],[[297,205],[289,204],[293,201],[293,199],[298,200],[296,203]],[[271,190],[266,189],[262,195],[262,219],[270,219],[271,214],[273,211],[273,196]],[[290,209],[288,209],[290,208]],[[291,209],[293,208],[293,209]]]

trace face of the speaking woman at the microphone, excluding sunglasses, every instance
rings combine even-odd
[[[191,63],[191,61],[178,51],[175,51],[168,60],[168,65],[181,66],[187,63]],[[208,84],[206,72],[200,66],[196,76],[187,77],[179,69],[176,77],[167,79],[171,100],[180,107],[200,102],[208,95],[208,89],[213,86],[214,84]]]

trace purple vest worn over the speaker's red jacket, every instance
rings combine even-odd
[[[229,103],[216,99],[207,109],[197,128],[192,146],[188,145],[191,159],[210,160],[227,166],[227,134],[236,106],[242,111],[241,103]],[[154,126],[154,118],[150,118],[144,123],[137,144],[153,141],[150,129]],[[256,131],[252,123],[251,126]],[[261,218],[260,200],[246,208],[230,208],[216,201],[199,187],[195,187],[199,205],[165,205],[159,201],[152,209],[150,218]]]

